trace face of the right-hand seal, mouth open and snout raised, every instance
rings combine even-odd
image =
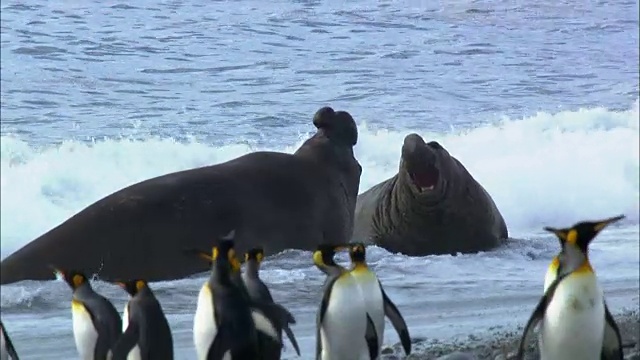
[[[431,191],[438,185],[440,171],[436,151],[441,148],[435,141],[425,144],[417,134],[409,134],[404,138],[402,145],[404,169],[419,192]]]

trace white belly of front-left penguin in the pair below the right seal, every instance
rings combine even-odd
[[[333,285],[320,329],[322,360],[365,360],[367,318],[361,290],[350,275]]]

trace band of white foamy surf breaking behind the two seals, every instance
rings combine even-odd
[[[397,171],[402,140],[416,132],[425,141],[443,144],[467,167],[493,197],[512,236],[611,212],[624,213],[637,224],[638,108],[636,100],[627,110],[539,112],[449,131],[380,129],[360,119],[355,147],[363,168],[359,192]],[[243,138],[211,145],[185,136],[38,144],[3,132],[1,258],[125,186],[257,150],[293,153],[308,136],[298,134],[284,146],[268,141],[253,146],[253,139]]]

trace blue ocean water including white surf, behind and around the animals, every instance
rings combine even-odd
[[[394,174],[416,132],[467,167],[515,238],[459,256],[369,248],[412,337],[522,325],[558,250],[542,227],[617,214],[627,218],[594,241],[592,262],[614,314],[639,306],[637,1],[2,0],[1,10],[2,258],[124,186],[293,152],[330,105],[358,123],[361,192]],[[262,274],[311,359],[324,277],[295,250]],[[178,359],[195,357],[205,276],[152,284]],[[122,290],[94,286],[123,308]],[[0,290],[22,358],[77,358],[65,284]],[[385,343],[396,341],[388,324]],[[295,358],[288,343],[285,357]]]

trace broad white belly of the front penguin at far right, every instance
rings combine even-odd
[[[600,360],[604,299],[593,274],[563,280],[548,305],[540,329],[541,360]]]

